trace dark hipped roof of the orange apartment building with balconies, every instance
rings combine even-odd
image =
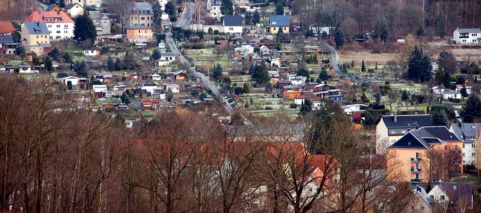
[[[409,131],[389,147],[428,149],[431,147],[430,144],[443,144],[449,141],[461,141],[461,139],[445,126],[429,126]]]

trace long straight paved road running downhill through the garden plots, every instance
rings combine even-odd
[[[177,21],[177,24],[176,24],[176,27],[181,27],[183,29],[187,29],[187,27],[189,26],[190,20],[192,19],[192,13],[194,12],[194,4],[193,3],[185,3],[185,4],[186,4],[185,5],[185,11],[181,15],[181,18],[179,19],[179,21]],[[166,42],[167,42],[167,45],[170,47],[170,50],[172,50],[173,53],[178,55],[181,63],[189,64],[187,59],[185,59],[185,57],[181,54],[181,52],[177,48],[177,45],[175,44],[175,41],[172,38],[172,34],[166,34]],[[226,98],[223,97],[222,95],[220,95],[220,93],[219,93],[218,89],[220,89],[220,87],[215,86],[215,84],[213,84],[213,82],[210,81],[207,76],[205,76],[201,72],[195,71],[195,69],[192,68],[192,67],[189,69],[189,72],[192,73],[194,75],[194,77],[200,78],[202,84],[207,86],[210,90],[212,90],[212,92],[216,96],[218,96],[220,98],[220,101],[221,101],[222,105],[224,105],[224,103],[225,103],[224,108],[227,110],[227,113],[229,115],[233,114],[234,110],[228,104]]]

